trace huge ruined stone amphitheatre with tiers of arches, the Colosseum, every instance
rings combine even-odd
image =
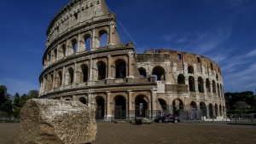
[[[110,121],[154,118],[226,118],[218,64],[201,55],[171,49],[138,54],[120,43],[116,16],[104,0],[73,0],[47,29],[39,97],[96,106],[96,118]]]

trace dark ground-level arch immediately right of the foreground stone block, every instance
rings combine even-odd
[[[105,100],[101,96],[96,97],[96,119],[104,119],[105,116]]]

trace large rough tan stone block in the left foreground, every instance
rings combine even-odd
[[[21,109],[15,144],[82,144],[95,139],[94,107],[79,101],[32,99]]]

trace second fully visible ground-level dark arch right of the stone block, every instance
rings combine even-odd
[[[118,95],[115,97],[114,118],[126,118],[126,100],[125,97],[122,95]]]

